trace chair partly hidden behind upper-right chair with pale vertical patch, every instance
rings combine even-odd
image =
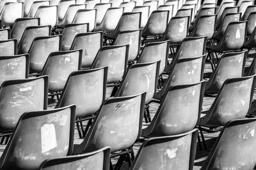
[[[238,22],[241,19],[241,13],[227,13],[223,20],[218,27],[217,31],[214,32],[213,38],[214,39],[221,39],[223,38],[223,35],[225,34],[225,31],[228,27],[228,24],[230,22]]]

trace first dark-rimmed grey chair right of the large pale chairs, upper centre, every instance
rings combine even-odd
[[[140,12],[123,13],[118,24],[116,25],[116,29],[113,32],[110,32],[109,34],[104,34],[105,43],[108,39],[115,39],[116,36],[118,36],[119,32],[140,29],[140,25]]]

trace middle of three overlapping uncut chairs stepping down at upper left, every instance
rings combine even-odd
[[[32,26],[26,27],[22,37],[20,39],[20,43],[18,46],[18,53],[28,53],[28,50],[33,43],[34,38],[39,36],[50,36],[51,35],[51,26]]]

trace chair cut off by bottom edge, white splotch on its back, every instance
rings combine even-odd
[[[140,147],[131,169],[193,169],[198,130],[147,139]]]

